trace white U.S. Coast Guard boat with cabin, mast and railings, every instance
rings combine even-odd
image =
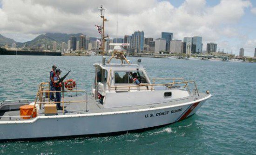
[[[102,9],[102,8],[101,8]],[[102,55],[104,55],[104,16]],[[62,87],[62,110],[49,99],[49,82],[39,85],[34,100],[0,103],[0,140],[81,136],[140,130],[181,121],[211,97],[198,91],[195,81],[183,78],[150,79],[141,61],[131,63],[123,46],[111,44],[113,55],[94,63],[91,95],[67,80]],[[111,63],[119,59],[120,63]],[[135,84],[133,74],[140,84]],[[157,82],[158,81],[158,82]],[[159,82],[162,81],[162,82]]]

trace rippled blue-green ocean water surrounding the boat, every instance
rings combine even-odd
[[[138,58],[128,57],[131,62]],[[256,154],[256,63],[141,58],[152,77],[195,80],[213,95],[192,117],[144,132],[44,141],[0,142],[1,155]],[[0,100],[34,99],[56,64],[90,92],[101,56],[0,56]],[[46,127],[47,130],[47,127]],[[61,132],[61,131],[58,131]]]

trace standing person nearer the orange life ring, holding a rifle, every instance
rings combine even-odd
[[[56,74],[54,76],[54,91],[61,91],[61,83],[60,81],[60,74],[61,74],[61,69],[57,68],[56,69]],[[55,93],[55,102],[61,102],[61,92],[56,92]],[[57,110],[62,110],[61,103],[57,103]]]

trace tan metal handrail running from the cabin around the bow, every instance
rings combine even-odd
[[[198,89],[197,89],[197,86],[195,84],[195,81],[185,81],[183,78],[156,78],[158,80],[162,79],[162,80],[168,80],[168,79],[171,79],[173,80],[173,82],[169,82],[169,83],[161,83],[161,84],[141,84],[141,85],[122,85],[122,86],[111,86],[110,85],[110,79],[111,78],[111,73],[112,73],[112,70],[110,69],[110,74],[109,74],[109,78],[108,78],[108,87],[109,88],[114,88],[115,90],[117,90],[118,88],[123,88],[123,89],[126,89],[128,91],[130,91],[131,88],[133,87],[146,87],[148,90],[154,90],[154,86],[166,86],[168,87],[168,89],[171,89],[173,88],[175,85],[181,85],[183,84],[183,88],[184,89],[187,89],[189,93],[191,93],[190,89],[189,89],[189,84],[194,84],[194,87],[195,87],[195,94],[197,94],[199,96],[199,93],[198,93]],[[156,80],[155,79],[155,80]],[[181,82],[175,82],[175,80],[182,80]]]

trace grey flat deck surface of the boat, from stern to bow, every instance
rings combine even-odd
[[[207,97],[209,94],[199,93],[200,95],[189,96],[183,99],[170,100],[159,103],[152,103],[148,105],[138,105],[138,106],[126,106],[126,107],[118,107],[118,108],[104,108],[99,99],[94,99],[92,96],[88,97],[88,105],[86,109],[86,103],[84,102],[74,102],[74,103],[65,103],[65,112],[62,110],[57,111],[57,115],[74,115],[74,114],[85,114],[85,113],[102,113],[102,112],[120,112],[120,111],[128,111],[128,110],[138,110],[138,109],[147,109],[147,108],[156,108],[168,105],[179,105],[183,103],[188,103],[191,101],[195,101],[198,99],[202,99]],[[74,100],[83,100],[84,96],[73,96],[73,97],[65,97],[65,101],[74,101]],[[62,105],[61,105],[62,106]],[[88,110],[88,111],[86,111]],[[19,116],[20,111],[7,111],[0,112],[0,121],[7,120],[21,120],[21,118],[14,118],[10,116]],[[45,116],[44,106],[42,105],[38,116]]]

